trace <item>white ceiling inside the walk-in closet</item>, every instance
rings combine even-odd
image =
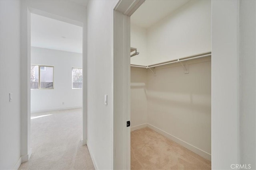
[[[131,23],[148,28],[189,0],[146,0],[131,16]]]

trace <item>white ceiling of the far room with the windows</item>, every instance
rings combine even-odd
[[[82,53],[82,27],[31,14],[31,46]]]

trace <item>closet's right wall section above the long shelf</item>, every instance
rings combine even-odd
[[[147,30],[147,65],[211,51],[211,1],[186,3]]]

